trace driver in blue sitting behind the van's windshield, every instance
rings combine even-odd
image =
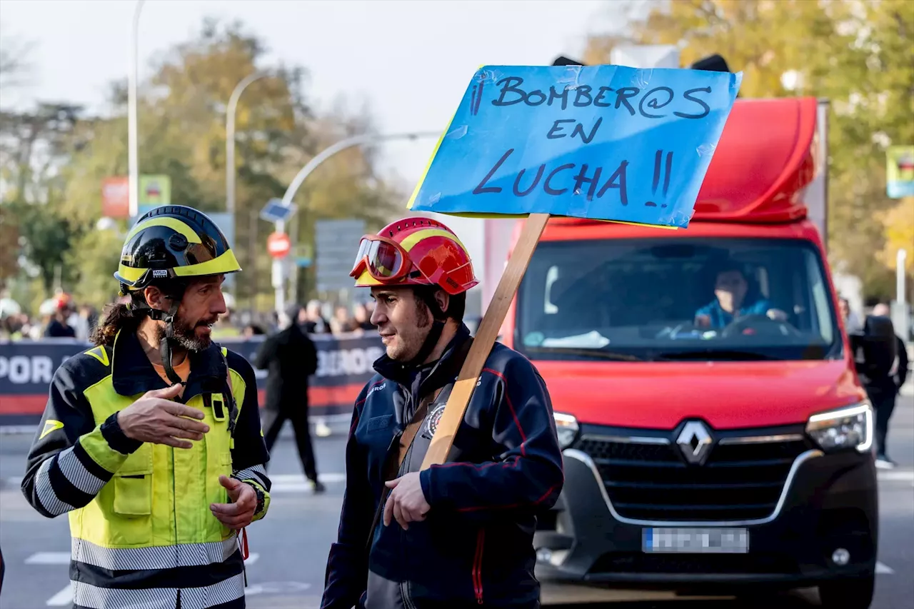
[[[696,311],[696,326],[720,329],[746,315],[767,315],[775,321],[787,320],[787,314],[773,308],[766,298],[760,294],[755,294],[753,298],[749,294],[749,280],[737,263],[729,262],[718,269],[714,295],[715,299],[710,304]]]

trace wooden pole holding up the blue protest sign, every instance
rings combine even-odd
[[[451,391],[451,397],[444,407],[441,414],[441,421],[438,422],[438,429],[431,439],[428,452],[422,461],[422,469],[428,469],[431,465],[441,465],[447,459],[451,452],[454,442],[454,436],[463,421],[463,413],[466,411],[467,404],[473,396],[473,389],[476,387],[476,380],[483,372],[485,360],[492,351],[495,338],[498,337],[498,330],[505,321],[508,307],[517,293],[517,287],[520,280],[526,272],[527,264],[533,256],[533,251],[537,249],[539,236],[546,229],[546,223],[549,214],[530,214],[524,222],[524,229],[521,230],[520,237],[517,239],[511,258],[508,259],[505,272],[502,273],[501,281],[495,288],[495,294],[492,302],[483,315],[483,321],[476,330],[476,336],[473,337],[473,346],[463,362],[460,375],[454,388]]]

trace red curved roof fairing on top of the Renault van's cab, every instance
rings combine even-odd
[[[737,100],[698,191],[693,220],[786,222],[806,215],[815,98]]]

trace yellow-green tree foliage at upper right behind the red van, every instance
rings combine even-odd
[[[898,201],[886,195],[887,146],[914,144],[910,0],[675,0],[633,14],[643,6],[629,5],[624,33],[591,36],[584,60],[608,63],[620,42],[674,44],[684,66],[719,53],[741,70],[741,97],[831,101],[831,262],[859,276],[867,294],[891,297],[893,271],[881,253],[890,227],[882,219],[914,222],[914,211],[887,215]],[[792,90],[781,78],[790,71],[798,76]]]

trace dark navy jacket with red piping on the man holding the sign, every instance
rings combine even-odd
[[[462,326],[430,370],[383,356],[358,396],[346,444],[346,488],[330,549],[322,608],[538,607],[533,533],[538,509],[564,483],[546,383],[524,356],[496,343],[476,383],[447,463],[420,474],[431,509],[400,529],[382,518],[367,540],[384,490],[388,451],[420,399],[429,406],[400,474],[418,472],[459,366],[448,365],[470,336]],[[406,414],[404,414],[404,412]]]

